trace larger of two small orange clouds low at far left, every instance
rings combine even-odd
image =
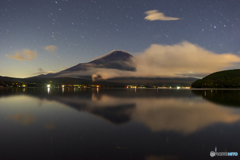
[[[22,51],[16,51],[15,55],[7,55],[8,58],[16,59],[19,61],[28,60],[32,61],[37,57],[38,53],[36,50],[32,51],[30,49],[23,49]]]

